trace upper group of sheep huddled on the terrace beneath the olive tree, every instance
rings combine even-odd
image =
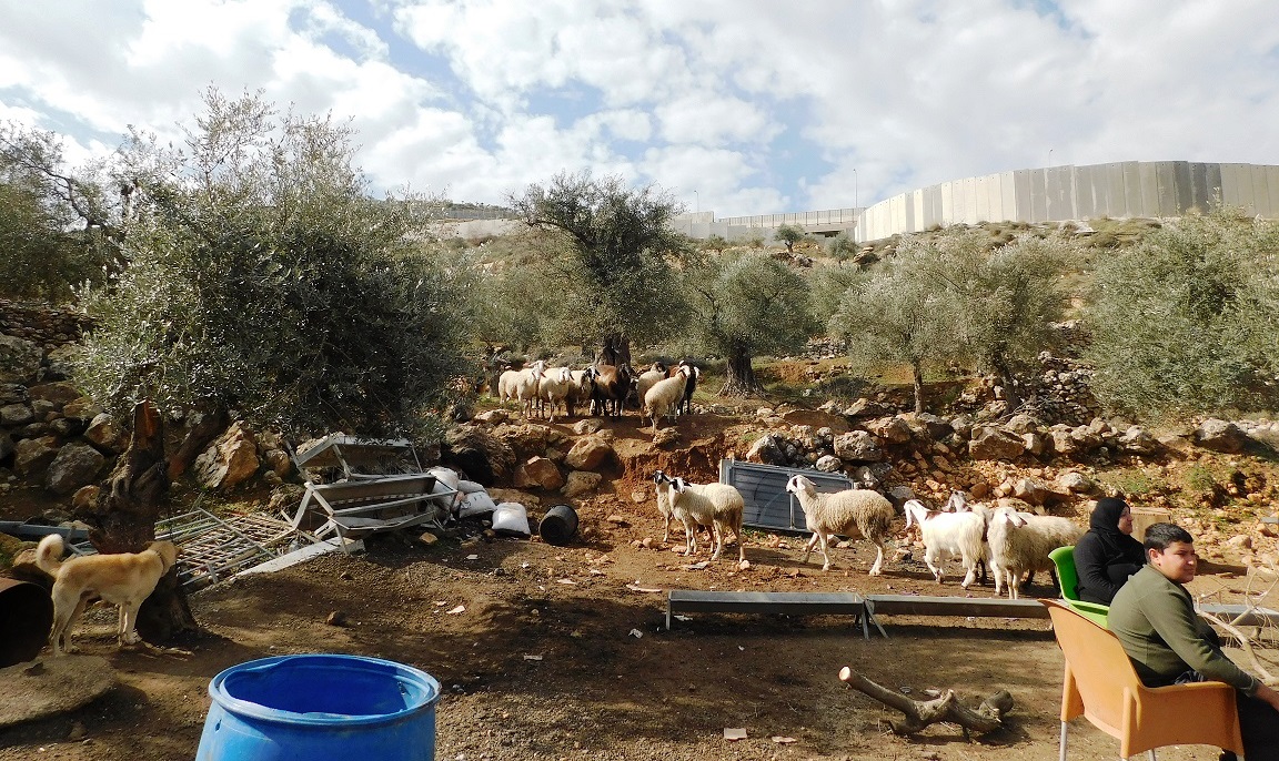
[[[692,412],[693,391],[702,372],[688,361],[674,367],[661,362],[636,375],[628,365],[595,365],[585,370],[547,367],[538,359],[521,370],[506,370],[498,379],[498,398],[514,402],[521,414],[532,417],[536,411],[555,422],[555,412],[573,416],[578,404],[591,405],[591,414],[619,416],[632,396],[640,405],[641,422]]]

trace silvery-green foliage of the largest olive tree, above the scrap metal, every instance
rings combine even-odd
[[[290,435],[428,432],[467,315],[455,271],[417,243],[426,205],[367,197],[344,125],[260,96],[205,102],[183,147],[128,146],[132,263],[86,293],[81,388]]]

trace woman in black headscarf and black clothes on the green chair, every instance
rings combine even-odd
[[[1128,577],[1146,563],[1141,542],[1132,538],[1132,510],[1122,499],[1097,500],[1088,532],[1074,545],[1079,600],[1110,605]]]

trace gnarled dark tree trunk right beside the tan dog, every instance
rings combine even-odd
[[[102,554],[139,553],[155,541],[156,519],[169,500],[164,422],[150,402],[133,408],[133,436],[97,500],[77,517],[90,526],[90,542]],[[198,631],[187,595],[170,568],[138,611],[138,634],[152,643]]]

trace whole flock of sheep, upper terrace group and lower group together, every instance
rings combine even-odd
[[[641,423],[651,420],[656,434],[657,421],[663,417],[674,420],[692,411],[700,377],[701,371],[687,361],[673,367],[659,362],[638,375],[628,365],[570,370],[547,367],[546,362],[537,361],[522,370],[503,372],[498,395],[503,402],[515,402],[526,418],[536,411],[547,416],[550,422],[555,422],[558,409],[572,417],[578,404],[590,404],[591,414],[619,416],[628,399],[634,399]],[[657,510],[666,522],[663,541],[670,540],[671,521],[678,521],[684,526],[687,537],[684,554],[692,555],[697,551],[698,527],[706,527],[712,544],[711,560],[718,560],[732,532],[738,545],[738,563],[746,564],[743,500],[737,489],[726,483],[689,483],[661,471],[654,473],[652,480]],[[807,563],[813,549],[820,546],[821,569],[829,570],[830,537],[866,538],[876,549],[870,573],[880,574],[884,546],[891,536],[897,515],[884,495],[867,489],[819,494],[813,482],[803,476],[792,477],[787,491],[798,499],[807,528],[812,532],[802,563]],[[982,570],[989,567],[995,578],[995,593],[1001,595],[1007,587],[1013,599],[1036,572],[1054,572],[1048,556],[1050,551],[1073,545],[1083,535],[1083,530],[1068,518],[1023,513],[1012,506],[969,505],[958,491],[952,494],[941,510],[930,510],[918,500],[908,500],[903,509],[906,530],[920,526],[923,561],[938,583],[943,577],[940,563],[955,556],[964,569],[963,588],[976,579],[978,567]]]

